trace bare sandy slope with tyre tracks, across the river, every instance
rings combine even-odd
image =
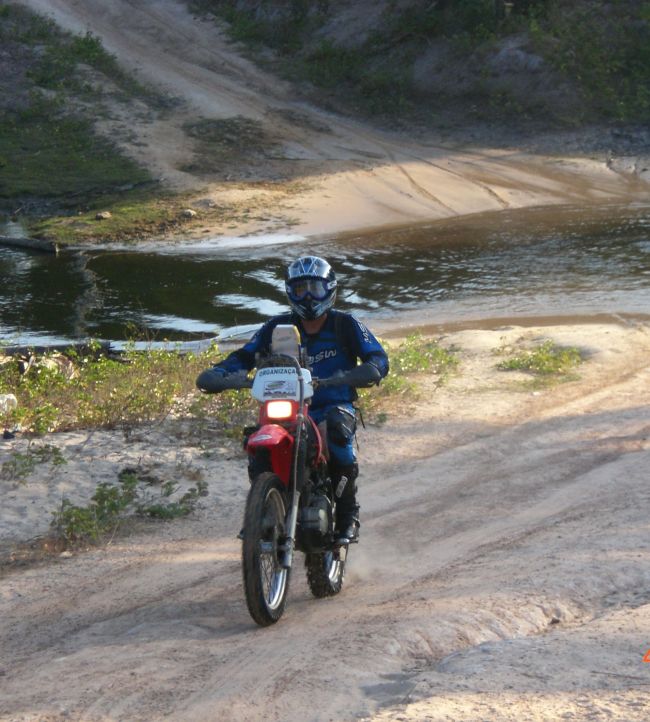
[[[415,143],[308,107],[178,0],[21,4],[75,32],[91,30],[142,82],[183,101],[165,117],[137,104],[116,106],[117,117],[102,127],[157,177],[176,187],[200,188],[203,200],[245,206],[261,197],[265,220],[231,227],[230,235],[282,230],[288,222],[296,233],[327,234],[501,208],[647,197],[646,183],[614,172],[605,159],[494,150],[480,147],[480,141],[468,151],[465,138],[445,146],[435,135]],[[263,121],[281,142],[274,159],[267,158],[261,168],[251,166],[245,175],[249,180],[300,179],[290,197],[284,190],[211,184],[178,170],[192,154],[184,122],[236,115]],[[206,225],[199,233],[223,231]]]

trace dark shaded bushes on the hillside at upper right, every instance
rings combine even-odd
[[[445,104],[460,101],[469,110],[472,98],[476,103],[481,96],[489,100],[496,94],[498,101],[482,103],[481,113],[527,112],[525,92],[510,97],[507,81],[498,92],[491,86],[488,91],[486,85],[486,56],[496,54],[505,38],[523,37],[526,50],[538,54],[549,70],[559,74],[558,82],[582,92],[583,107],[572,120],[643,121],[650,117],[648,2],[413,0],[399,7],[389,2],[369,32],[343,43],[328,34],[327,23],[335,11],[327,0],[196,0],[192,4],[225,19],[231,35],[253,49],[273,48],[277,67],[288,77],[308,80],[338,103],[374,115],[395,118],[428,105],[413,82],[413,67],[435,47],[445,53],[450,72],[457,72],[454,67],[461,62],[474,73],[469,97],[464,90],[454,99],[449,90],[453,78],[445,80],[442,70],[442,85],[432,98],[437,106],[444,98]],[[562,111],[556,108],[551,116],[561,118]]]

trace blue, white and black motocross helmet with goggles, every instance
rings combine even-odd
[[[324,258],[303,256],[287,268],[285,289],[291,308],[311,321],[334,305],[336,274]]]

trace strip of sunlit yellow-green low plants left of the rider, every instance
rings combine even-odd
[[[184,410],[196,376],[215,353],[216,348],[202,354],[151,349],[110,357],[96,348],[83,355],[68,352],[67,367],[47,363],[53,354],[44,354],[26,373],[21,373],[21,359],[12,357],[0,366],[0,393],[14,393],[18,406],[3,421],[36,435],[81,428],[128,432]],[[224,428],[246,418],[252,408],[242,392],[199,397],[194,404],[197,414],[209,414]]]

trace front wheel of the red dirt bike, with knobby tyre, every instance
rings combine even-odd
[[[280,479],[265,472],[253,480],[246,500],[244,591],[248,611],[262,627],[280,619],[289,590],[289,570],[280,563],[280,546],[286,537],[284,499]]]

